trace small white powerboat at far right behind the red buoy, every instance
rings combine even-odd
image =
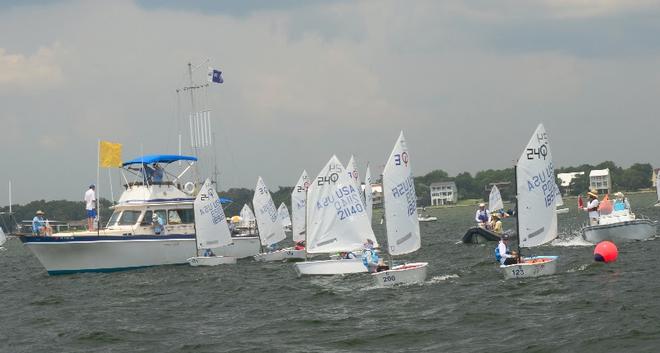
[[[612,211],[598,217],[598,224],[582,228],[582,237],[590,243],[646,240],[656,234],[657,222],[637,218],[630,210]]]

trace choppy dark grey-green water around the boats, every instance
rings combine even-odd
[[[634,211],[660,219],[654,194]],[[660,240],[593,261],[573,199],[558,274],[504,280],[495,244],[458,243],[474,208],[430,210],[424,284],[375,288],[367,275],[297,278],[291,264],[162,266],[48,276],[17,239],[0,252],[1,352],[658,352]],[[374,217],[375,219],[378,217]],[[377,223],[377,222],[376,222]],[[514,226],[506,220],[505,227]],[[384,242],[383,226],[375,231]]]

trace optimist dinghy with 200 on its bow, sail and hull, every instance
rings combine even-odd
[[[387,229],[387,252],[404,255],[421,246],[415,182],[403,131],[383,170],[383,202]],[[428,262],[405,263],[372,273],[378,286],[419,283],[426,280]]]

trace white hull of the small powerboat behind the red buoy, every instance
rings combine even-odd
[[[599,243],[603,240],[613,242],[646,240],[656,234],[657,225],[648,219],[634,219],[630,221],[600,224],[582,228],[582,237],[590,243]]]

